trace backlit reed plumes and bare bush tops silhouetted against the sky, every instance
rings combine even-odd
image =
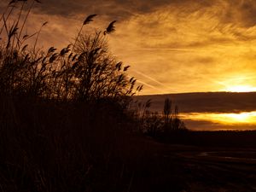
[[[34,3],[34,1],[33,1]],[[9,6],[18,6],[14,1]],[[24,3],[20,15],[23,14]],[[13,9],[10,10],[10,12]],[[29,15],[31,9],[26,14]],[[88,25],[96,15],[90,15],[84,20]],[[44,52],[38,50],[38,36],[47,22],[40,27],[35,43],[30,47],[26,44],[31,35],[20,29],[20,17],[8,26],[3,15],[3,34],[0,49],[0,89],[5,95],[37,96],[58,101],[87,101],[102,98],[113,98],[121,101],[126,96],[132,96],[142,90],[142,85],[136,86],[136,79],[128,79],[128,67],[109,54],[106,36],[113,32],[113,22],[106,29],[107,33],[84,34],[83,27],[74,44],[57,51],[54,47]],[[19,31],[20,29],[20,31]],[[136,89],[137,88],[137,89]]]

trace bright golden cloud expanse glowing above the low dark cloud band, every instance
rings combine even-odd
[[[147,74],[150,78],[134,73],[147,84],[161,89],[161,93],[253,91],[241,86],[253,88],[255,79],[245,78],[243,84],[230,81],[240,90],[230,90],[227,88],[230,84],[219,84],[234,80],[234,76],[252,76],[256,69],[256,28],[242,26],[240,22],[224,22],[221,16],[226,6],[217,4],[187,12],[187,8],[170,6],[136,15],[129,25],[121,26],[129,32],[124,39],[127,38],[127,42],[134,39],[136,44],[132,49],[127,46],[119,51],[119,57],[134,63],[138,72]],[[144,93],[159,91],[146,86]]]

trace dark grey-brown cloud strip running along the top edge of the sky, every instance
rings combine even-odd
[[[9,3],[2,0],[1,9]],[[199,10],[218,9],[218,17],[223,23],[234,23],[244,27],[255,26],[256,2],[254,0],[42,0],[36,11],[45,15],[76,17],[77,15],[107,15],[125,20],[132,15],[148,14],[157,9],[170,7],[182,18]],[[170,11],[172,11],[170,10]],[[150,20],[150,18],[149,18]]]

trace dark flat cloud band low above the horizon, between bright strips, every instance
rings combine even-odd
[[[240,113],[256,111],[256,93],[186,93],[137,96],[139,101],[152,100],[152,111],[161,112],[166,98],[171,98],[181,113]]]

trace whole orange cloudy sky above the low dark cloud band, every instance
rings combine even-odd
[[[256,90],[254,0],[41,1],[26,30],[48,21],[39,37],[44,48],[73,43],[87,15],[97,16],[84,32],[117,20],[110,51],[131,65],[142,94]],[[0,1],[1,14],[8,3]]]

